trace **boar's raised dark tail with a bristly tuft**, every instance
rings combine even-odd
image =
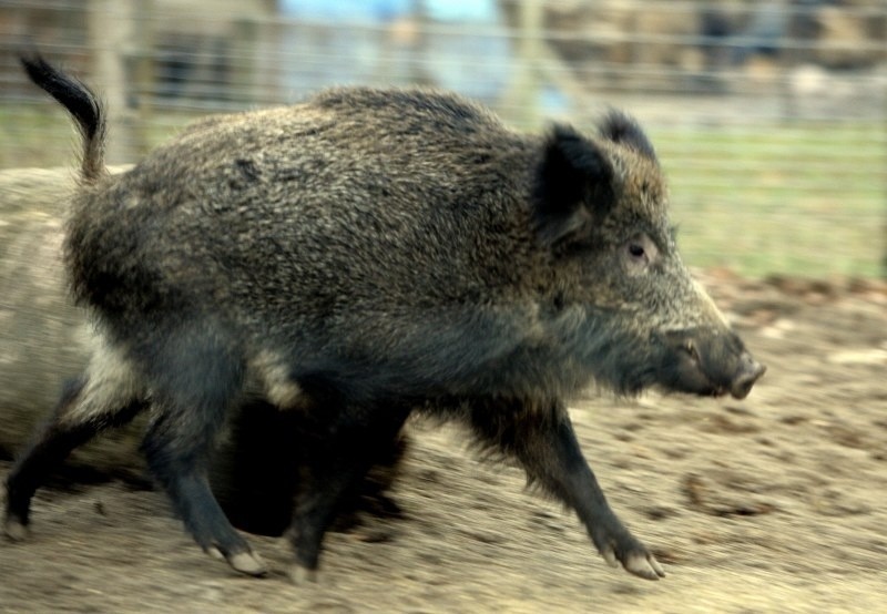
[[[64,74],[38,54],[21,57],[24,72],[37,85],[61,103],[77,122],[83,137],[81,180],[94,183],[105,173],[105,111],[101,100],[86,85]]]

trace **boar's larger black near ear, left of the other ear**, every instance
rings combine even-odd
[[[536,177],[536,223],[549,247],[569,241],[613,203],[613,168],[592,141],[555,125]]]

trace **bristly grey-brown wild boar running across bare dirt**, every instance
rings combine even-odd
[[[200,122],[110,177],[95,96],[23,63],[83,134],[64,257],[99,344],[7,481],[10,536],[71,449],[151,407],[143,450],[185,526],[264,573],[205,478],[253,388],[317,433],[293,516],[297,580],[417,408],[516,459],[608,562],[663,575],[610,510],[564,399],[591,383],[742,398],[764,368],[682,264],[631,119],[528,135],[451,94],[339,89]]]

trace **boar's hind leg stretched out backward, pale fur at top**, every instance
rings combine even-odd
[[[72,450],[106,428],[126,424],[144,408],[131,393],[120,379],[95,373],[68,385],[52,418],[7,478],[3,531],[10,539],[27,535],[31,498]]]

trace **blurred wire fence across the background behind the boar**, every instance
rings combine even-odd
[[[884,0],[0,0],[3,168],[74,152],[28,48],[106,99],[112,163],[333,84],[456,90],[522,130],[623,108],[692,265],[887,275]]]

